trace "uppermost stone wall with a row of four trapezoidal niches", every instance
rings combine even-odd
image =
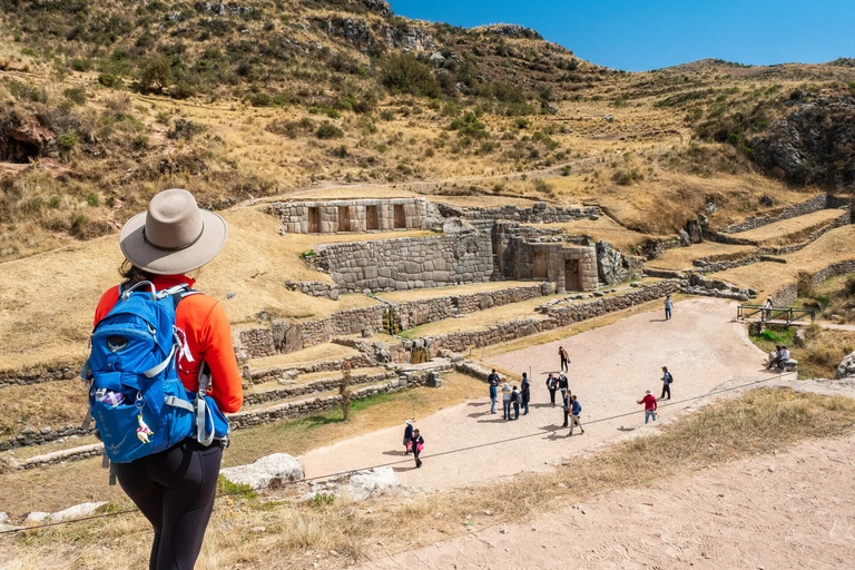
[[[428,216],[424,198],[275,202],[269,208],[292,234],[421,229]]]

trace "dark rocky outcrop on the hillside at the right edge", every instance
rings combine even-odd
[[[748,142],[751,159],[787,181],[855,187],[855,98],[796,91],[793,112]]]

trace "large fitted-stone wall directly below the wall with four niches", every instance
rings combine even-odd
[[[493,247],[489,234],[465,232],[323,245],[314,263],[342,293],[445,287],[490,281]]]

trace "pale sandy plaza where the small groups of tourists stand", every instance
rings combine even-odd
[[[420,470],[403,456],[404,417],[401,428],[314,450],[299,462],[308,478],[392,464],[403,484],[424,489],[489,483],[521,471],[549,469],[558,460],[643,430],[643,413],[636,401],[646,389],[659,395],[662,365],[674,372],[676,402],[662,406],[661,419],[691,405],[680,401],[705,395],[725,382],[776,377],[763,370],[763,353],[750,343],[745,326],[733,322],[735,316],[731,303],[692,298],[677,303],[668,322],[660,312],[642,313],[566,341],[495,356],[492,363],[509,372],[531,368],[531,413],[505,422],[500,403],[499,413],[491,414],[487,385],[484,397],[466,404],[428,417],[420,417],[416,410],[414,423],[425,439]],[[547,372],[558,367],[560,344],[572,360],[570,387],[582,404],[584,435],[567,438],[560,406],[549,403],[543,381]]]

